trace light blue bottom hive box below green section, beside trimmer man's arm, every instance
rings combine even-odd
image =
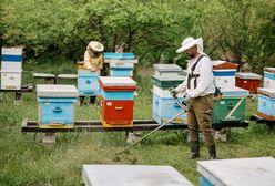
[[[179,101],[183,101],[183,95],[179,95]],[[169,90],[162,90],[154,85],[153,87],[153,118],[159,123],[163,124],[167,122],[176,114],[181,113],[183,108],[177,104],[176,100],[173,99]],[[186,123],[186,114],[182,114],[171,123]]]

